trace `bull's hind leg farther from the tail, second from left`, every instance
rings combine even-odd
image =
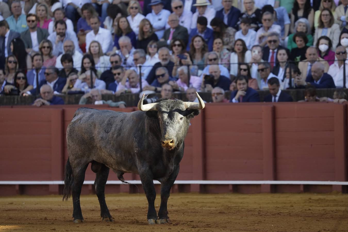
[[[108,167],[101,164],[100,170],[96,173],[96,178],[94,182],[95,192],[97,194],[98,201],[100,204],[100,216],[103,218],[104,222],[113,222],[112,216],[110,215],[108,206],[106,206],[105,202],[105,184],[108,180],[109,170],[110,169]]]

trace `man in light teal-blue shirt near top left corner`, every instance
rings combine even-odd
[[[11,3],[11,12],[13,15],[6,18],[6,21],[9,25],[10,30],[22,33],[28,29],[26,24],[26,16],[22,14],[21,2],[14,0]]]

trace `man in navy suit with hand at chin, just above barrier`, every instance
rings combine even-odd
[[[230,102],[260,102],[259,93],[248,87],[248,80],[246,76],[238,76],[237,80],[237,89],[231,93]]]

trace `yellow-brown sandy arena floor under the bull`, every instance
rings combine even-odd
[[[348,231],[347,194],[172,194],[172,223],[162,225],[147,225],[144,194],[106,203],[115,222],[102,222],[96,195],[83,195],[85,223],[74,224],[71,199],[0,197],[0,231]]]

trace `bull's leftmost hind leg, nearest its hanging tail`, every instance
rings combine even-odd
[[[72,193],[72,203],[74,207],[74,211],[72,216],[74,217],[74,223],[84,222],[84,218],[82,217],[81,206],[80,206],[80,194],[82,184],[85,181],[85,172],[88,167],[88,163],[85,166],[80,168],[73,169],[74,180],[71,185],[71,193]]]

